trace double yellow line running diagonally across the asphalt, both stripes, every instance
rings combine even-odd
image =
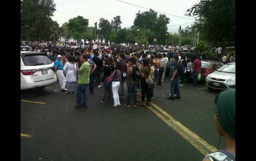
[[[153,113],[155,113],[166,124],[168,124],[170,127],[172,127],[176,132],[178,132],[183,138],[185,138],[189,143],[191,143],[203,155],[208,155],[212,152],[217,151],[217,149],[215,147],[208,144],[206,141],[204,141],[202,138],[200,138],[198,135],[196,135],[190,129],[185,127],[179,121],[174,119],[171,115],[169,115],[166,111],[161,109],[159,106],[155,105],[154,103],[151,103],[151,104],[154,108],[152,108],[150,106],[147,106],[147,107]]]

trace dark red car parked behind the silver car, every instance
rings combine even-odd
[[[201,79],[205,80],[206,76],[217,69],[219,69],[224,64],[220,61],[215,60],[201,60]],[[193,77],[193,73],[190,74],[190,77]]]

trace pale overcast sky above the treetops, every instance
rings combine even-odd
[[[123,3],[123,2],[126,3]],[[178,33],[179,26],[185,29],[186,26],[190,26],[195,18],[185,16],[187,10],[193,5],[198,4],[199,0],[54,0],[56,4],[56,11],[53,13],[52,20],[57,21],[61,27],[69,19],[77,16],[82,16],[89,20],[88,26],[94,26],[94,23],[99,24],[99,19],[104,18],[109,22],[113,20],[115,16],[121,17],[121,28],[129,28],[133,25],[133,21],[136,17],[136,13],[139,11],[145,12],[149,11],[151,8],[155,11],[167,13],[166,15],[170,18],[170,23],[168,24],[169,33]],[[140,8],[137,6],[144,8]],[[161,13],[158,13],[160,15]],[[187,19],[175,17],[184,17]],[[191,20],[189,20],[191,19]],[[184,25],[181,25],[184,24]],[[173,26],[178,25],[178,26]],[[147,28],[147,27],[146,27]]]

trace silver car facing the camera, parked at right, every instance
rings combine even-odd
[[[215,72],[208,74],[205,79],[205,84],[208,86],[208,89],[228,90],[235,88],[235,68],[235,62],[231,62],[223,65]]]

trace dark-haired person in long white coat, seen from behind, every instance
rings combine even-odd
[[[68,62],[65,64],[63,70],[66,73],[66,84],[67,84],[67,93],[75,93],[74,91],[74,85],[76,82],[76,64],[74,63],[73,57],[68,57]]]

